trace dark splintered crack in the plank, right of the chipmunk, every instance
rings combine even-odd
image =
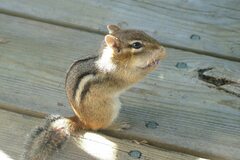
[[[233,92],[233,91],[229,91],[226,88],[222,88],[221,86],[223,85],[229,85],[229,84],[238,84],[237,82],[234,82],[232,80],[228,80],[226,78],[217,78],[217,77],[213,77],[213,76],[209,76],[209,75],[205,75],[204,73],[210,70],[213,70],[213,67],[210,68],[204,68],[204,69],[199,69],[198,70],[198,79],[207,82],[209,84],[213,84],[214,86],[208,86],[210,88],[215,88],[217,90],[220,91],[224,91],[228,94],[240,97],[239,93]]]

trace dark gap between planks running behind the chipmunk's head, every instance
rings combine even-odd
[[[57,25],[57,26],[65,27],[65,28],[95,33],[95,34],[99,34],[99,35],[107,34],[107,32],[103,32],[103,31],[100,31],[97,29],[88,28],[88,27],[84,27],[81,25],[76,25],[76,24],[67,23],[67,22],[63,22],[63,21],[56,21],[56,20],[52,20],[52,19],[40,18],[40,17],[36,17],[36,16],[32,16],[32,15],[28,15],[28,14],[24,14],[24,13],[20,13],[20,12],[16,12],[16,11],[7,10],[7,9],[0,9],[0,14],[18,17],[18,18],[29,19],[29,20],[33,20],[33,21],[39,21],[39,22],[43,22],[43,23],[47,23],[47,24],[52,24],[52,25]],[[164,43],[164,42],[162,42],[162,45],[165,47],[168,47],[168,48],[178,49],[178,50],[187,51],[187,52],[193,52],[195,54],[206,55],[206,56],[216,57],[216,58],[220,58],[220,59],[226,59],[226,60],[230,60],[230,61],[234,61],[234,62],[240,62],[240,58],[237,58],[237,57],[219,55],[214,52],[202,51],[202,50],[198,50],[198,49],[187,48],[184,46],[171,45],[171,44]]]

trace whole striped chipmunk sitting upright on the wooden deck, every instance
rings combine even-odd
[[[75,116],[48,117],[32,131],[23,159],[46,160],[79,130],[110,127],[121,107],[120,94],[164,58],[164,47],[143,31],[107,28],[100,54],[74,62],[67,72],[65,89]]]

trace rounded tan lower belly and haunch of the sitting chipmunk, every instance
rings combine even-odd
[[[98,130],[109,127],[117,118],[121,103],[116,96],[102,94],[93,88],[81,101],[80,117],[89,129]]]

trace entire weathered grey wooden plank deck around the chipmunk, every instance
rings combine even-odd
[[[168,57],[121,96],[131,129],[84,132],[55,159],[240,160],[239,0],[0,0],[0,159],[18,160],[46,114],[72,114],[66,70],[106,24],[145,30]]]

